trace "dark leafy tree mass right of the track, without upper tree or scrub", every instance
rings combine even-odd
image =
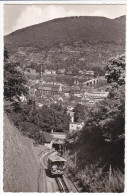
[[[91,110],[78,141],[80,163],[99,162],[100,166],[111,164],[113,168],[124,170],[124,138],[124,86],[119,86],[112,98]]]

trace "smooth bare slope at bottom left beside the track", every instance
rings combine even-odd
[[[4,191],[37,192],[39,161],[32,140],[23,137],[4,116]]]

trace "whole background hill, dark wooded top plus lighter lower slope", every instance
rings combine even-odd
[[[12,61],[38,72],[41,66],[103,69],[110,57],[125,51],[125,16],[54,19],[5,36],[5,46]]]

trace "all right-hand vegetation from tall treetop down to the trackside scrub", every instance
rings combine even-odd
[[[83,192],[124,191],[125,58],[109,63],[109,98],[89,112],[82,131],[68,137],[67,172]]]

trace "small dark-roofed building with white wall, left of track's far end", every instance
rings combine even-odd
[[[48,132],[43,132],[43,136],[44,136],[44,146],[48,147],[49,149],[52,148],[52,144],[53,144],[53,136],[51,133]]]

